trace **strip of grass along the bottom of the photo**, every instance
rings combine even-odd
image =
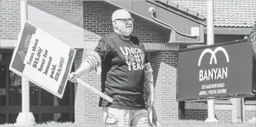
[[[9,125],[0,125],[1,127],[11,127],[15,126],[12,124]],[[101,122],[91,122],[91,123],[71,123],[71,122],[46,122],[42,124],[37,124],[35,127],[70,127],[70,126],[81,126],[81,127],[101,127],[104,126]],[[203,121],[195,120],[178,120],[178,121],[168,121],[161,122],[161,126],[176,126],[176,127],[255,127],[256,123],[231,123],[231,122],[217,122],[217,123],[208,123]]]

